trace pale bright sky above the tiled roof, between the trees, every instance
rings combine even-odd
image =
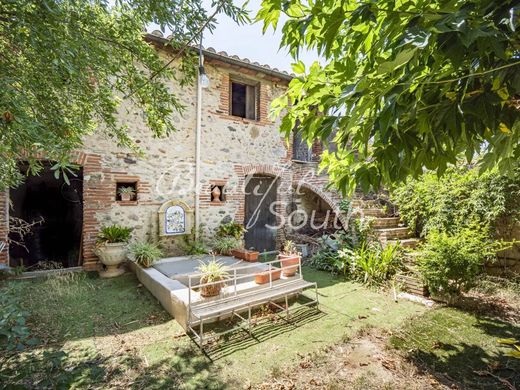
[[[251,10],[253,18],[260,9],[261,0],[250,0],[248,9]],[[204,0],[204,4],[211,14],[211,1]],[[236,2],[238,4],[238,2]],[[226,15],[219,15],[217,26],[210,35],[206,33],[202,44],[205,48],[213,47],[217,52],[225,51],[228,55],[237,55],[240,58],[247,57],[251,62],[268,64],[279,70],[291,72],[291,63],[294,62],[285,49],[279,49],[282,39],[282,20],[278,24],[278,30],[273,32],[272,28],[262,34],[262,23],[252,25],[237,25]],[[304,52],[300,59],[307,65],[318,59],[316,53]]]

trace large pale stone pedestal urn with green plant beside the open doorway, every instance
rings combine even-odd
[[[111,278],[125,272],[124,269],[118,267],[126,259],[127,243],[131,232],[131,228],[119,225],[101,228],[95,253],[105,265],[106,270],[100,272],[100,276]]]

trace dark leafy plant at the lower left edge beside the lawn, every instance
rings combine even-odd
[[[37,343],[30,337],[28,313],[20,306],[17,294],[12,288],[0,290],[0,350],[21,351]]]

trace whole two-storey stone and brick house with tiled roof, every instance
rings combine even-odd
[[[160,33],[146,39],[165,59],[171,58]],[[316,174],[320,145],[287,142],[279,133],[279,120],[269,117],[270,103],[292,76],[211,48],[204,50],[204,61],[211,83],[200,95],[199,121],[196,83],[171,83],[186,109],[175,119],[178,131],[167,138],[153,138],[139,110],[121,111],[121,121],[144,157],[96,133],[75,155],[80,170],[71,185],[54,179],[49,162],[38,177],[0,193],[0,241],[7,239],[15,218],[45,220],[34,226],[26,248],[11,245],[0,253],[0,262],[17,266],[30,257],[25,265],[56,259],[64,266],[94,269],[96,236],[109,224],[132,227],[133,239],[158,239],[175,255],[182,253],[183,237],[194,224],[211,237],[221,223],[235,220],[251,225],[247,247],[270,251],[279,247],[284,234],[280,226],[298,204],[316,204],[339,215],[339,196],[325,189],[326,176]],[[122,187],[132,188],[135,197],[123,200]],[[309,194],[310,201],[299,201]],[[184,235],[161,235],[165,205],[181,205],[186,211]]]

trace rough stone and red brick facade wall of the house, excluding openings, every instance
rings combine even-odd
[[[171,54],[161,53],[165,59],[170,58]],[[98,266],[94,254],[96,236],[102,226],[109,224],[133,228],[133,240],[159,239],[168,255],[183,253],[183,236],[158,236],[157,212],[161,204],[172,199],[194,209],[195,197],[199,197],[200,222],[204,225],[206,238],[212,237],[222,222],[235,220],[243,223],[244,189],[247,177],[254,174],[279,178],[276,211],[280,216],[287,212],[295,180],[302,179],[307,188],[325,196],[327,203],[331,204],[334,195],[324,190],[326,176],[314,175],[305,181],[306,173],[315,170],[316,166],[309,165],[305,170],[291,162],[291,142],[286,142],[280,135],[279,119],[269,118],[271,101],[284,92],[287,81],[277,79],[272,73],[255,72],[216,59],[208,60],[205,70],[211,84],[203,90],[202,98],[200,183],[195,183],[195,85],[181,87],[171,83],[170,88],[185,110],[174,119],[178,131],[165,138],[154,138],[143,121],[142,112],[123,103],[120,121],[128,126],[129,135],[144,156],[118,147],[101,130],[84,140],[84,147],[78,152],[75,162],[83,167],[84,175],[82,243],[86,269]],[[244,78],[258,83],[258,120],[229,114],[230,80]],[[117,184],[128,182],[136,183],[137,199],[118,201]],[[212,185],[224,186],[224,202],[211,201]],[[0,239],[5,238],[8,226],[8,197],[1,195],[0,219],[4,222],[0,222]],[[283,235],[282,229],[278,231],[278,244]],[[6,260],[7,253],[4,252],[0,261]]]

